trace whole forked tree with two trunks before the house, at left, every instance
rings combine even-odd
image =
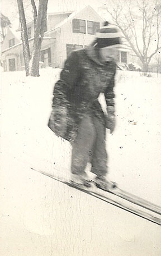
[[[31,0],[31,6],[34,15],[34,44],[30,57],[29,41],[27,36],[27,26],[25,19],[25,11],[23,7],[23,0],[17,0],[18,12],[21,23],[21,35],[23,45],[23,57],[25,60],[26,76],[39,76],[39,61],[41,44],[46,28],[46,12],[48,7],[48,0],[39,0],[39,9],[37,12],[35,0]]]

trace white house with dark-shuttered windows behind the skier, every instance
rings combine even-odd
[[[46,31],[42,41],[40,61],[43,66],[63,67],[64,60],[74,49],[86,47],[94,40],[94,31],[100,28],[103,19],[91,6],[79,12],[48,13]],[[34,42],[34,22],[27,24],[30,51]],[[127,63],[128,49],[118,56],[118,62]],[[21,32],[8,28],[2,49],[4,71],[24,68]]]

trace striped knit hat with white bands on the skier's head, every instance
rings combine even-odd
[[[96,33],[97,48],[119,47],[121,46],[121,33],[116,26],[112,26],[107,21],[104,26],[97,30]]]

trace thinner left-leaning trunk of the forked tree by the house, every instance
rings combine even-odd
[[[27,36],[27,26],[26,26],[26,19],[25,19],[25,12],[23,8],[23,1],[17,0],[18,5],[18,12],[20,16],[20,23],[21,23],[21,39],[22,39],[22,46],[23,46],[23,58],[25,62],[25,71],[26,76],[29,76],[29,62],[30,62],[30,48]]]

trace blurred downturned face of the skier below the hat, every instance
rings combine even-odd
[[[104,47],[100,48],[100,57],[102,61],[108,62],[108,61],[117,61],[119,49],[114,47]]]

